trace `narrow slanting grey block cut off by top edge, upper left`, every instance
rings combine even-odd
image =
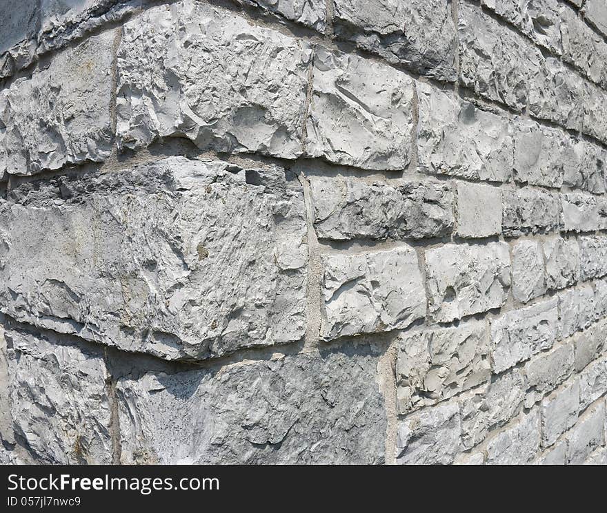
[[[41,0],[39,54],[117,23],[143,6],[143,0]]]

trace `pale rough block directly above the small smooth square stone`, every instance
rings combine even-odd
[[[417,158],[426,173],[507,182],[513,170],[508,121],[418,82]]]

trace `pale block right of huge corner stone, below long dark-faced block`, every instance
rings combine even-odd
[[[331,253],[322,260],[322,338],[402,329],[426,315],[415,249]]]

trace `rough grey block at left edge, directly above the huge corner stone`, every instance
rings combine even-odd
[[[0,92],[0,176],[110,155],[114,36],[92,36]]]

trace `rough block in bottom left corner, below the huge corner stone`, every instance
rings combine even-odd
[[[10,415],[38,463],[112,463],[110,399],[101,350],[56,335],[7,331]]]

